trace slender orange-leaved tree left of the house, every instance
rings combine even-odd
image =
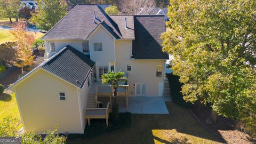
[[[34,62],[32,46],[35,36],[33,33],[27,31],[25,22],[15,23],[10,33],[13,35],[14,41],[17,44],[17,55],[14,65],[21,67],[22,74],[24,74],[23,67],[32,65]]]

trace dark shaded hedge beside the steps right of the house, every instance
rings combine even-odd
[[[169,84],[170,84],[170,89],[171,89],[171,96],[172,99],[177,105],[184,107],[184,108],[191,108],[193,105],[191,102],[186,102],[183,99],[182,93],[181,93],[181,87],[182,84],[179,81],[179,76],[175,76],[173,74],[166,74]]]

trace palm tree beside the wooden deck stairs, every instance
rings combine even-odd
[[[117,87],[120,86],[120,82],[127,82],[127,78],[123,76],[124,73],[121,71],[109,71],[107,74],[102,75],[102,84],[109,83],[111,90],[113,91],[114,105],[112,107],[113,121],[119,121],[119,110],[117,103]]]

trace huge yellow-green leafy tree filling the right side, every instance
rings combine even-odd
[[[256,2],[171,0],[163,51],[184,99],[256,130]],[[216,115],[215,115],[216,116]],[[215,120],[216,117],[213,117]]]

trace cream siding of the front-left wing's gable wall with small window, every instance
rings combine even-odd
[[[75,86],[39,69],[15,92],[26,131],[43,133],[58,124],[60,133],[83,133]],[[60,101],[59,92],[66,93],[66,101]]]

